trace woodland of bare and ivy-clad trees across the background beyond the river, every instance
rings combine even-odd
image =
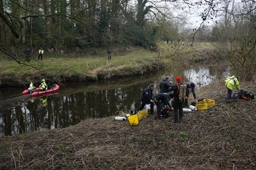
[[[0,0],[1,56],[24,61],[24,51],[81,53],[159,41],[214,43],[236,74],[255,73],[253,0]],[[198,20],[191,21],[189,15]],[[188,26],[189,25],[189,26]],[[97,50],[95,50],[97,53]]]

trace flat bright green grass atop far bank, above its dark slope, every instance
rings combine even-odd
[[[147,50],[138,50],[133,53],[129,53],[123,56],[113,55],[112,60],[106,59],[106,57],[80,57],[80,58],[68,58],[68,57],[44,57],[44,60],[31,60],[31,64],[42,68],[43,71],[49,73],[66,73],[66,74],[88,74],[93,73],[95,69],[109,69],[120,66],[136,66],[138,62],[147,63],[156,57],[156,53],[149,52]],[[36,69],[28,66],[19,65],[14,60],[4,60],[0,64],[0,71],[5,74],[9,73],[33,73]],[[41,71],[42,72],[42,71]]]

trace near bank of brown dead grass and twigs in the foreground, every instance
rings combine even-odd
[[[256,94],[255,83],[241,89]],[[131,127],[109,117],[2,137],[0,169],[256,169],[256,99],[227,104],[220,81],[196,94],[216,106],[179,124],[150,115]]]

